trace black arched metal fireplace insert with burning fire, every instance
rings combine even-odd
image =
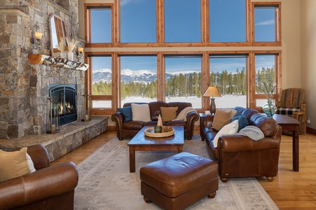
[[[77,120],[76,85],[49,85],[49,97],[55,99],[60,125]]]

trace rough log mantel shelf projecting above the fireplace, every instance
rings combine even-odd
[[[48,66],[63,67],[65,69],[76,69],[85,71],[88,69],[89,64],[74,62],[61,57],[53,57],[49,55],[29,55],[29,64],[44,64]]]

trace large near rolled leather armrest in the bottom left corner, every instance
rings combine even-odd
[[[73,162],[0,182],[0,209],[13,209],[74,190],[78,172]]]

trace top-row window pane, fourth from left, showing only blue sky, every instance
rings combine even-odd
[[[247,41],[245,0],[209,0],[209,41]]]

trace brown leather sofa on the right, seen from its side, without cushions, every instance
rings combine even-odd
[[[249,125],[259,127],[265,137],[254,141],[239,134],[222,135],[214,148],[213,139],[218,131],[212,128],[214,116],[207,116],[203,134],[209,157],[219,164],[221,181],[251,176],[266,176],[268,181],[273,181],[278,171],[282,128],[254,109],[235,107],[235,110],[247,118]]]

